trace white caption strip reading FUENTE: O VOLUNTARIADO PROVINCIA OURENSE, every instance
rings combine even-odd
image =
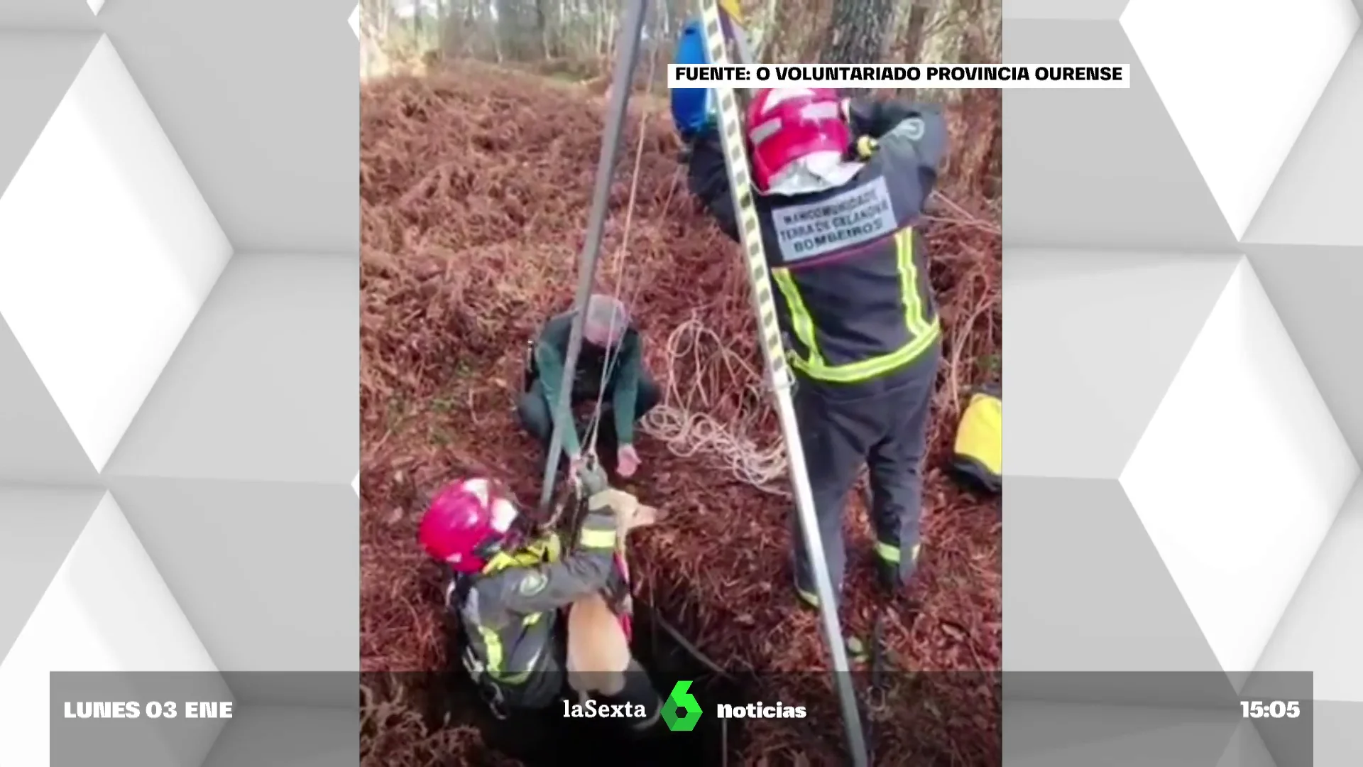
[[[999,64],[668,64],[668,87],[1126,89],[1131,67]]]

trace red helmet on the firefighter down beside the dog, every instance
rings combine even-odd
[[[421,546],[455,572],[477,573],[502,549],[515,504],[487,479],[447,484],[421,517]]]

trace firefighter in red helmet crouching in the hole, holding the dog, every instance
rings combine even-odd
[[[626,512],[617,505],[631,497],[604,498],[567,554],[557,535],[529,531],[514,501],[487,479],[447,486],[421,519],[421,546],[451,572],[446,607],[463,636],[461,661],[497,718],[544,711],[564,695],[560,610],[612,587],[616,515]],[[645,733],[662,700],[637,661],[624,676],[624,688],[602,703],[642,706],[645,717],[628,727]]]

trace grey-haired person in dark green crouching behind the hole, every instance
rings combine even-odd
[[[568,349],[574,313],[551,318],[536,337],[526,362],[525,386],[517,415],[521,426],[548,450],[553,437],[549,416],[559,407],[559,386]],[[611,359],[607,375],[607,358]],[[658,404],[658,388],[643,368],[643,340],[619,299],[593,295],[587,300],[582,326],[582,351],[574,371],[572,404],[601,400],[601,435],[616,448],[616,472],[630,478],[639,468],[634,448],[634,427]],[[574,467],[583,456],[571,418],[563,429],[563,449]]]

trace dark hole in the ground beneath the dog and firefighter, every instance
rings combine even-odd
[[[669,621],[671,622],[671,621]],[[686,629],[676,626],[686,636]],[[478,691],[463,673],[442,674],[443,692],[431,691],[428,722],[432,726],[473,725],[484,744],[526,767],[567,764],[592,759],[619,764],[695,767],[722,764],[725,753],[736,757],[747,745],[741,719],[720,719],[720,703],[743,706],[755,700],[751,685],[741,678],[725,678],[694,658],[668,632],[658,628],[654,607],[641,602],[634,606],[634,656],[649,671],[658,695],[668,696],[679,681],[690,681],[688,692],[699,701],[703,714],[688,733],[671,732],[658,722],[646,737],[627,733],[616,719],[567,719],[564,701],[577,703],[575,693],[564,695],[544,711],[521,714],[504,721],[491,715]],[[458,658],[451,647],[451,658]],[[570,697],[571,696],[571,697]],[[446,719],[448,717],[448,719]],[[627,721],[626,721],[627,722]]]

